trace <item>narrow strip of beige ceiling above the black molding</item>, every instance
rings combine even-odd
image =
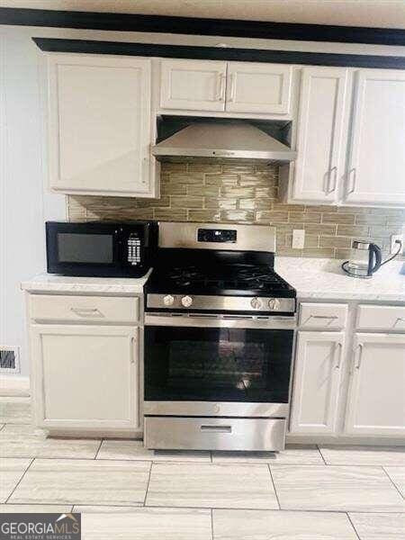
[[[405,29],[405,0],[0,0],[0,6]]]

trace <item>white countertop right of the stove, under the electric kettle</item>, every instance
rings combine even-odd
[[[346,275],[343,261],[325,258],[275,257],[275,270],[297,290],[298,298],[405,302],[403,261],[393,260],[371,279]]]

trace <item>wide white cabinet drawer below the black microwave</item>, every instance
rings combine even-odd
[[[139,319],[139,298],[31,294],[30,317],[32,320],[98,324],[136,322]]]

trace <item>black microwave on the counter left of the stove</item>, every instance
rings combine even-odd
[[[140,277],[157,249],[156,221],[46,223],[49,274]]]

